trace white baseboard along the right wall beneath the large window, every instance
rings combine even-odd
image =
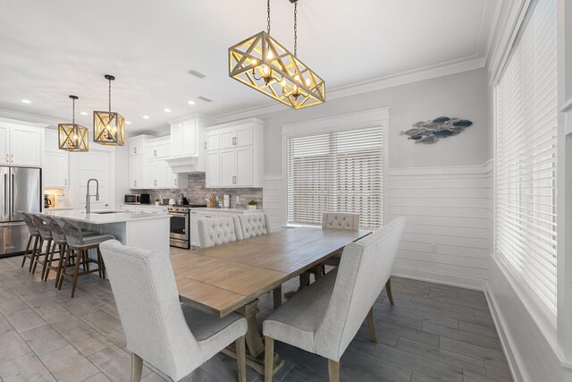
[[[484,288],[484,297],[489,305],[489,309],[491,310],[492,321],[494,322],[494,327],[497,329],[497,333],[499,334],[499,338],[501,339],[501,346],[502,351],[505,353],[507,357],[507,362],[509,363],[510,374],[512,375],[513,380],[515,381],[530,381],[531,378],[528,376],[523,375],[523,372],[526,372],[524,368],[521,367],[522,361],[520,361],[520,357],[516,352],[513,352],[513,349],[517,347],[514,345],[514,341],[512,341],[512,336],[505,330],[505,327],[508,327],[507,322],[501,315],[501,311],[499,310],[499,305],[497,304],[494,296],[491,293],[489,288],[489,284],[485,283]]]

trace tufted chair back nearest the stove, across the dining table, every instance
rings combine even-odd
[[[237,216],[224,216],[217,219],[199,219],[198,238],[201,248],[242,240],[240,220]]]

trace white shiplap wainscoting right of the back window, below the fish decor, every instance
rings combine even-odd
[[[388,221],[408,218],[393,274],[483,289],[492,248],[491,181],[490,162],[389,169]]]

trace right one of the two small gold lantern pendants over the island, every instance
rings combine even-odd
[[[93,112],[93,141],[100,145],[123,146],[125,144],[125,119],[111,111],[111,81],[115,77],[105,74],[109,81],[109,111]]]

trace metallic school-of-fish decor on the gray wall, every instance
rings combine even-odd
[[[472,124],[467,119],[440,116],[431,121],[413,123],[411,129],[400,132],[400,134],[407,135],[408,140],[415,140],[416,143],[435,143],[440,138],[463,132]]]

